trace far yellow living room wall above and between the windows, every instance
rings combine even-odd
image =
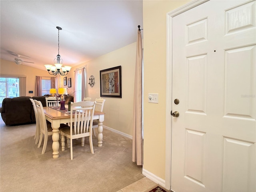
[[[26,96],[30,97],[35,96],[36,76],[50,77],[47,70],[40,70],[23,64],[17,65],[12,61],[2,59],[0,63],[0,74],[26,76]],[[28,91],[33,91],[33,93],[28,93]]]

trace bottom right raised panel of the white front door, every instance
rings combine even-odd
[[[255,179],[255,170],[252,169],[255,166],[255,144],[226,137],[223,144],[222,191],[252,191],[249,184],[255,184],[252,180]]]

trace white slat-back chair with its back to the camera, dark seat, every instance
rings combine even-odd
[[[95,103],[92,101],[86,102],[71,102],[70,114],[70,125],[60,130],[61,134],[61,149],[65,150],[65,136],[70,139],[70,157],[73,159],[73,139],[81,138],[82,146],[84,146],[85,137],[89,137],[91,153],[94,154],[92,145],[92,118],[94,115]],[[73,113],[74,112],[74,113]],[[67,142],[68,143],[68,142]]]

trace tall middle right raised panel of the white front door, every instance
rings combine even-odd
[[[225,117],[255,120],[255,53],[255,45],[225,50]]]

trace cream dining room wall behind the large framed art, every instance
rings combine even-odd
[[[71,68],[67,75],[67,79],[71,77],[72,80],[72,88],[68,90],[71,92],[74,89],[74,70],[85,67],[87,74],[86,96],[95,100],[95,98],[100,98],[100,70],[121,66],[122,98],[102,97],[106,99],[103,109],[103,112],[106,113],[104,126],[130,136],[132,136],[135,60],[136,42],[89,62],[79,64]],[[88,84],[91,75],[95,78],[94,87],[90,87]],[[61,77],[61,80],[63,83],[63,77]]]

